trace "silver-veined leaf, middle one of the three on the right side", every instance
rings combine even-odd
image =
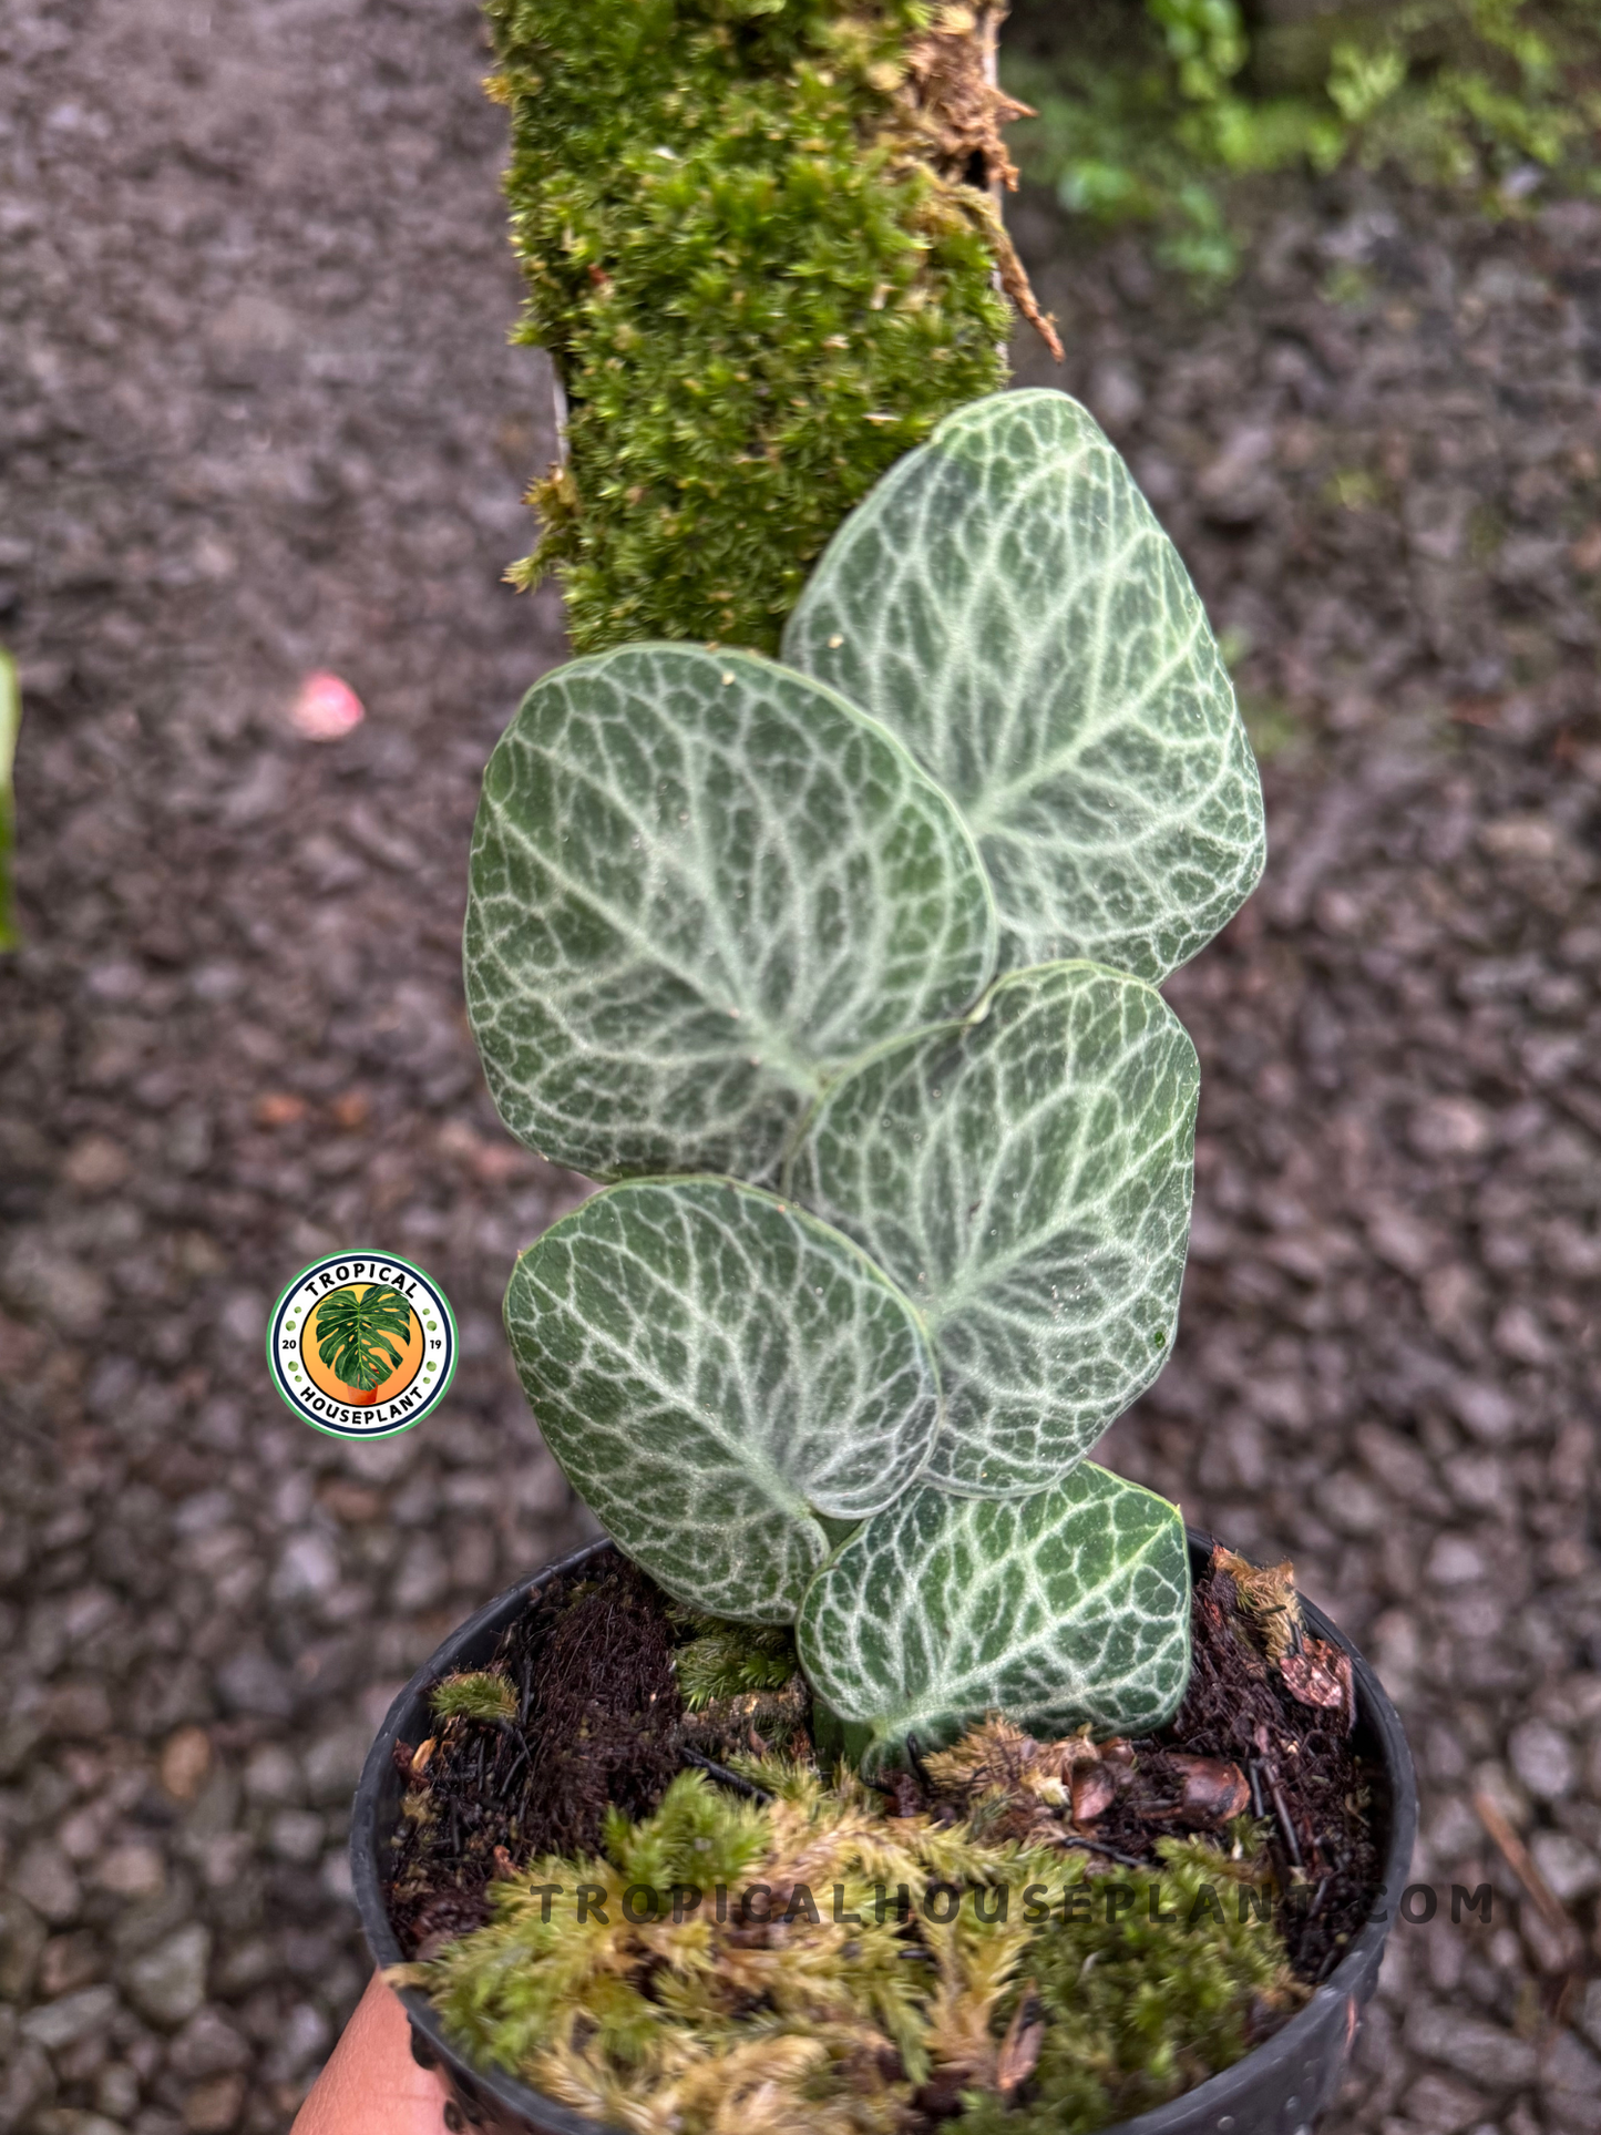
[[[792,1191],[922,1313],[944,1381],[929,1482],[1065,1475],[1168,1362],[1200,1070],[1161,995],[1095,963],[999,980],[837,1082]]]

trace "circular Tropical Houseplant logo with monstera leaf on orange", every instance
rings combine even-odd
[[[444,1401],[455,1313],[433,1277],[397,1253],[329,1253],[273,1307],[267,1369],[314,1430],[386,1439]]]

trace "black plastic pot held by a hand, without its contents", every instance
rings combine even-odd
[[[350,1866],[354,1872],[361,1926],[378,1964],[399,1964],[403,1951],[384,1909],[384,1862],[399,1825],[406,1791],[395,1768],[395,1742],[418,1742],[431,1731],[429,1691],[453,1670],[482,1667],[502,1631],[514,1623],[544,1580],[608,1550],[608,1541],[564,1556],[532,1580],[521,1580],[497,1601],[470,1616],[440,1650],[418,1667],[389,1708],[378,1740],[356,1787]],[[1200,1573],[1212,1552],[1210,1535],[1189,1533],[1191,1567]],[[1121,2120],[1104,2135],[1306,2135],[1334,2097],[1341,2069],[1356,2037],[1358,2018],[1379,1979],[1390,1924],[1407,1885],[1413,1838],[1417,1836],[1417,1783],[1411,1751],[1396,1708],[1379,1678],[1338,1629],[1304,1603],[1306,1620],[1319,1638],[1330,1638],[1351,1655],[1356,1672],[1356,1740],[1379,1772],[1375,1817],[1383,1860],[1383,1889],[1356,1941],[1283,2030],[1245,2060],[1198,2084],[1195,2090],[1134,2120]],[[596,2135],[598,2122],[544,2099],[514,2075],[474,2069],[444,2037],[438,2015],[416,1990],[401,1994],[412,2020],[412,2052],[425,2069],[438,2069],[453,2097],[444,2107],[448,2129],[474,2126],[504,2135]]]

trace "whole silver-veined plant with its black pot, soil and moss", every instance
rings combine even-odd
[[[529,690],[465,982],[508,1127],[611,1181],[506,1298],[611,1546],[446,1642],[363,1776],[356,1898],[457,2122],[1332,2094],[1415,1823],[1394,1712],[1287,1567],[1087,1458],[1176,1328],[1157,989],[1262,865],[1200,600],[1059,393],[901,457],[781,660]]]

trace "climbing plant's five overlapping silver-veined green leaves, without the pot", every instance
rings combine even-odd
[[[1183,1695],[1178,1509],[1084,1456],[1178,1313],[1157,986],[1262,863],[1200,600],[1061,393],[899,461],[783,664],[574,660],[495,747],[474,1033],[512,1132],[617,1181],[517,1264],[523,1383],[615,1541],[794,1623],[871,1764]]]

